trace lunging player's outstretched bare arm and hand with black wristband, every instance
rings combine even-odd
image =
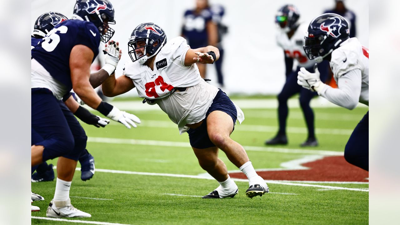
[[[214,56],[208,54],[207,52],[214,52]],[[191,49],[186,52],[185,56],[185,66],[190,66],[196,62],[200,62],[203,64],[212,64],[214,61],[218,60],[220,58],[220,50],[214,46],[206,46],[203,48],[196,48],[196,49]]]

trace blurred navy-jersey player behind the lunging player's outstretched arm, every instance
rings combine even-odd
[[[203,46],[217,46],[218,28],[212,21],[212,12],[209,10],[208,0],[196,0],[196,8],[186,10],[181,36],[186,38],[190,48]],[[206,77],[206,65],[196,63],[202,78]]]

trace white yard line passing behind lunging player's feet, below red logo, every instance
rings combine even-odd
[[[134,175],[148,175],[148,176],[162,176],[162,177],[185,177],[185,178],[194,178],[194,179],[206,179],[206,180],[214,180],[212,177],[202,177],[198,175],[184,175],[184,174],[172,174],[172,173],[147,173],[147,172],[134,172],[134,171],[121,171],[121,170],[110,170],[110,169],[96,169],[97,172],[104,173],[120,173],[120,174],[134,174]],[[237,179],[232,178],[234,181],[240,182],[248,182],[247,179]],[[320,187],[320,188],[329,188],[329,189],[338,189],[338,190],[348,190],[348,191],[367,191],[365,189],[359,188],[348,188],[348,187],[334,187],[334,186],[326,186],[326,185],[312,185],[305,183],[289,183],[289,182],[281,182],[274,180],[265,180],[266,183],[273,183],[279,185],[291,185],[291,186],[302,186],[302,187]]]

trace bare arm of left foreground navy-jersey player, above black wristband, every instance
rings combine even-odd
[[[70,54],[70,70],[72,88],[75,93],[88,106],[96,109],[102,100],[89,82],[93,56],[92,50],[87,46],[81,44],[74,46]]]

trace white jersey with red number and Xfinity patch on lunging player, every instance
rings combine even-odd
[[[178,125],[180,134],[206,117],[206,112],[218,92],[218,88],[205,82],[196,64],[184,66],[186,52],[190,46],[182,37],[168,40],[155,56],[154,70],[129,62],[124,75],[131,78],[141,98],[155,99],[155,103]],[[188,87],[182,92],[173,92],[174,87]],[[243,113],[237,107],[238,114]],[[241,122],[241,121],[240,121]]]

